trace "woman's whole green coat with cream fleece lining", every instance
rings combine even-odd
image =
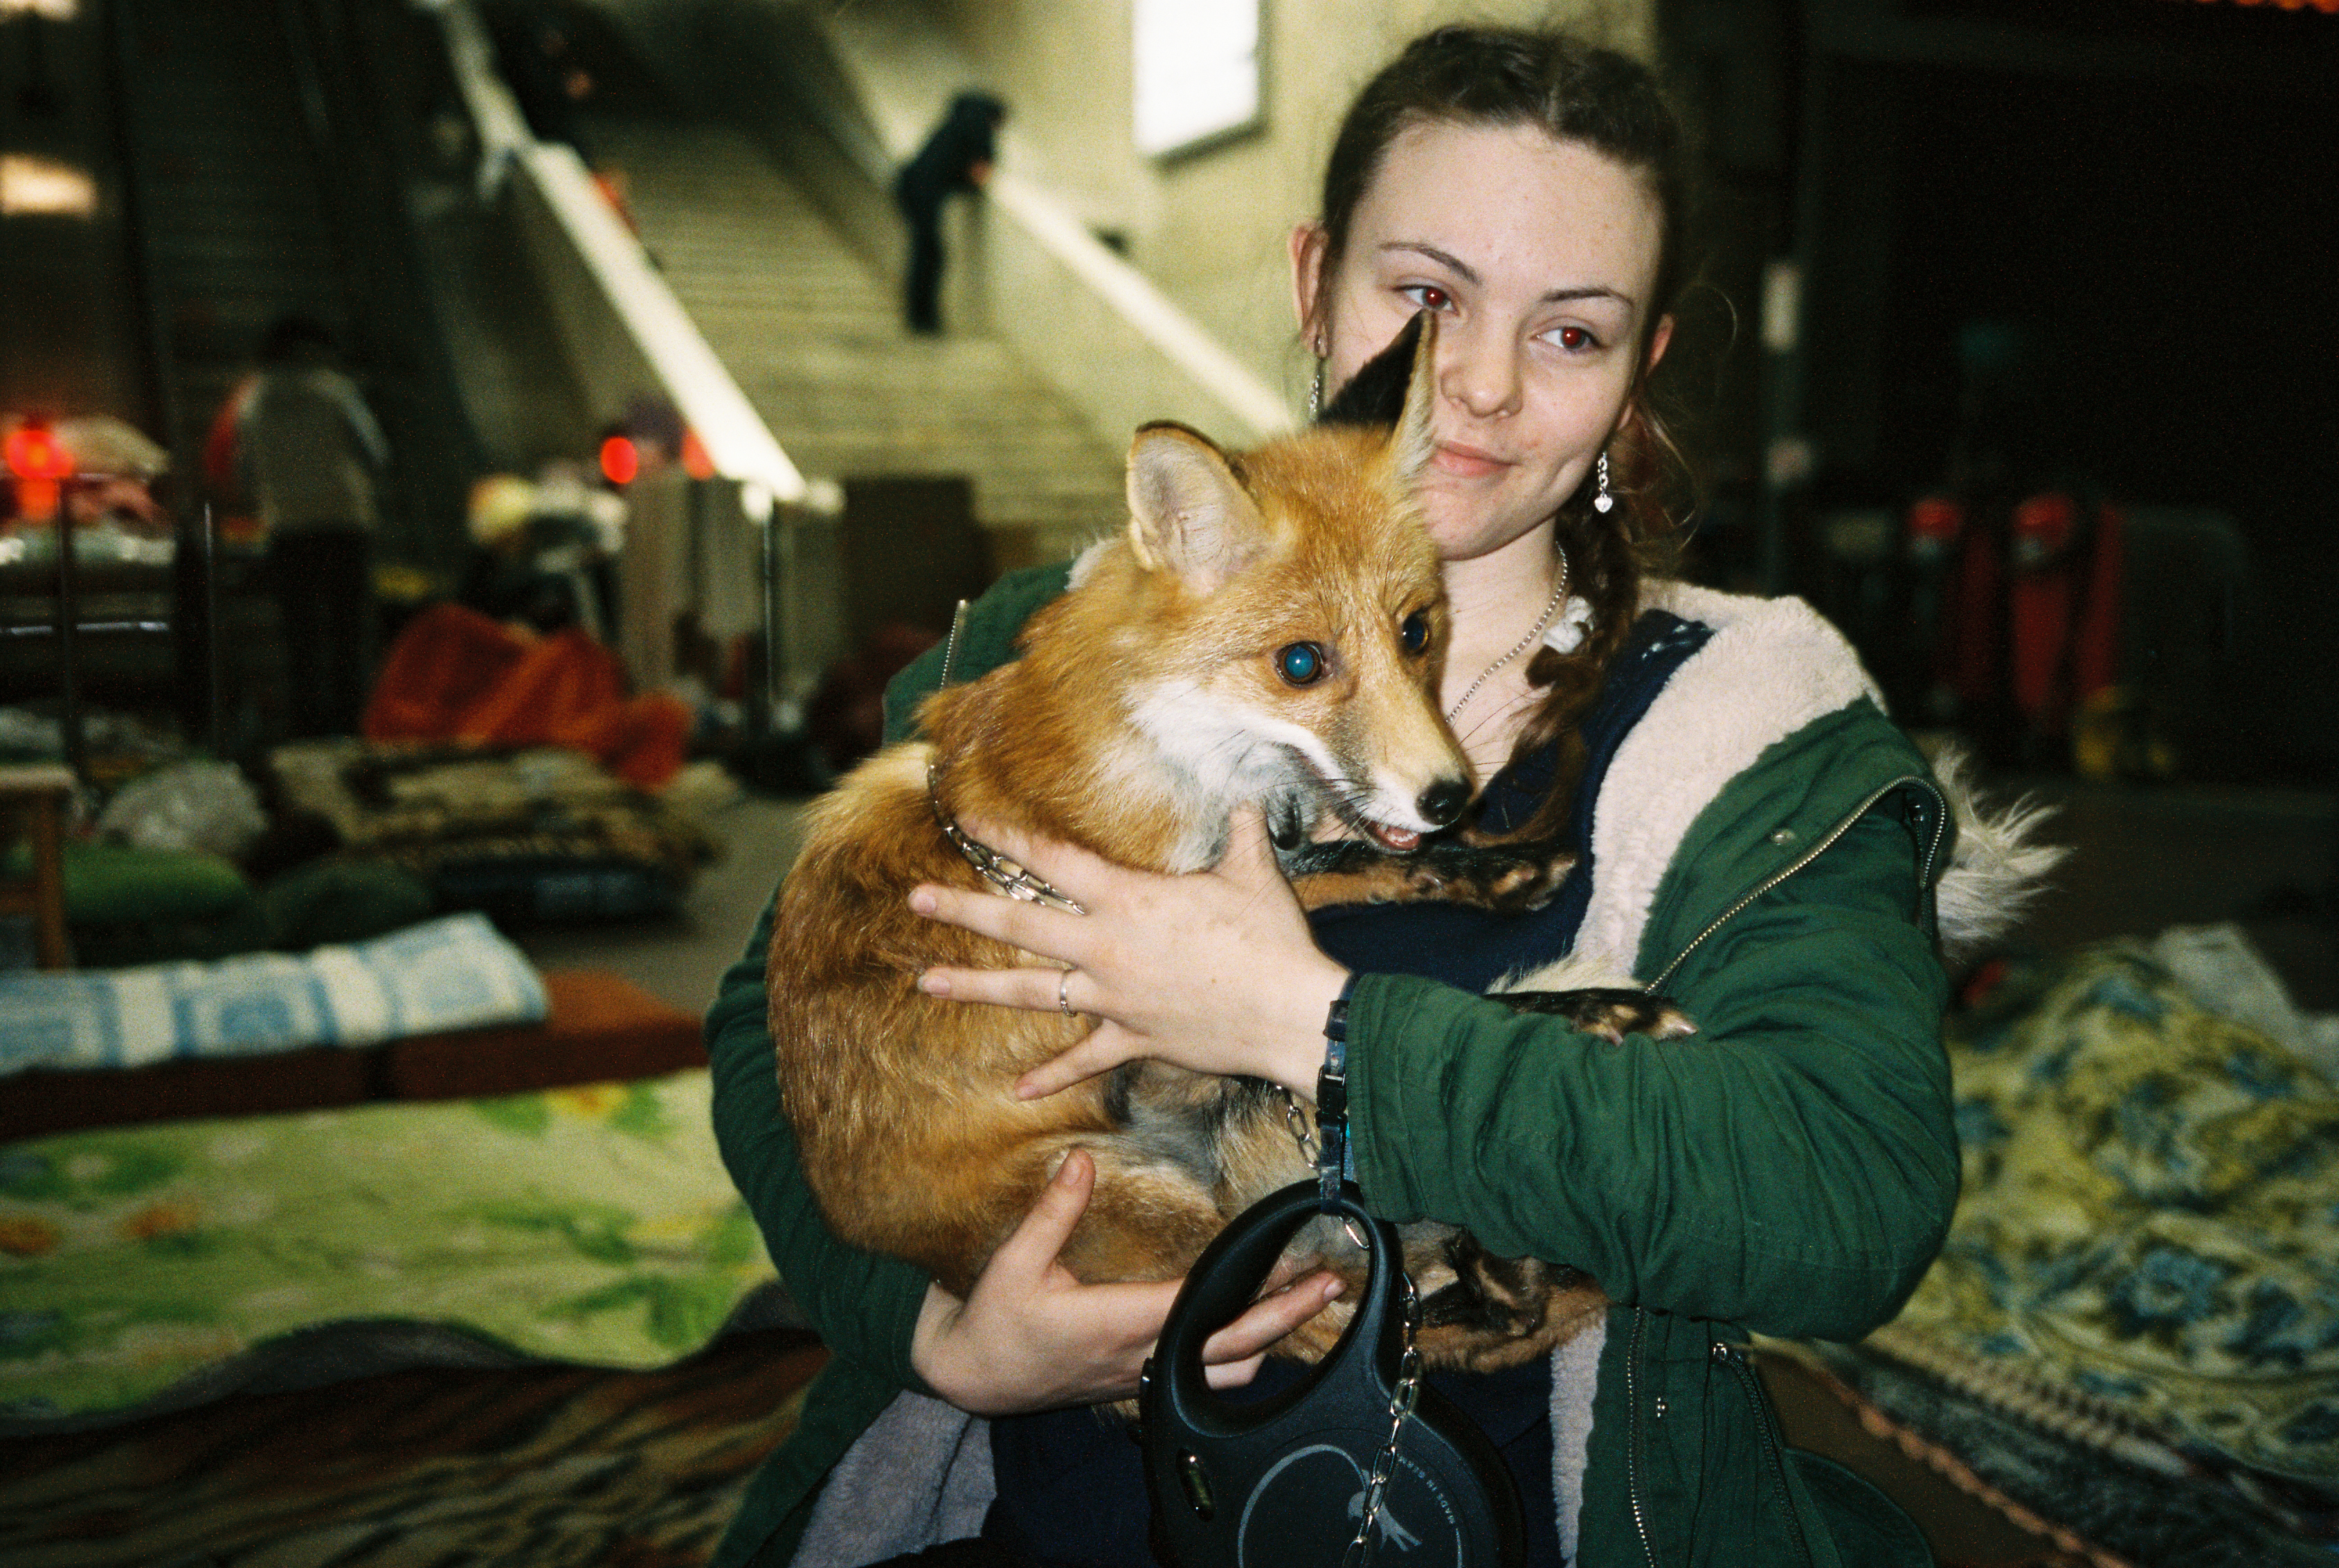
[[[954,676],[1013,658],[1024,618],[1062,587],[1057,566],[985,594]],[[1801,601],[1677,583],[1647,601],[1717,634],[1609,768],[1579,953],[1656,983],[1700,1034],[1605,1046],[1450,985],[1364,976],[1357,1177],[1378,1215],[1567,1259],[1619,1301],[1576,1561],[1930,1563],[1881,1493],[1782,1444],[1745,1343],[1857,1339],[1939,1250],[1958,1144],[1937,892],[1988,934],[2021,875],[1951,871],[1962,812]],[[893,737],[938,679],[940,651],[893,683]],[[706,1016],[716,1130],[833,1360],[718,1563],[786,1563],[837,1458],[901,1390],[924,1392],[910,1332],[926,1275],[835,1240],[800,1180],[765,1032],[767,941],[770,908]]]

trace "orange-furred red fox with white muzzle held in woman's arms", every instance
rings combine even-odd
[[[1015,1077],[1088,1023],[917,990],[931,964],[1031,962],[908,910],[917,882],[985,885],[985,850],[959,819],[1162,873],[1216,864],[1242,803],[1265,805],[1279,847],[1326,817],[1378,840],[1352,845],[1371,857],[1343,871],[1298,878],[1310,908],[1518,906],[1565,875],[1572,859],[1539,852],[1469,875],[1450,857],[1401,854],[1474,793],[1436,709],[1446,599],[1413,501],[1431,452],[1422,321],[1420,346],[1401,344],[1413,365],[1394,431],[1317,426],[1230,456],[1184,426],[1141,428],[1125,536],[1078,562],[1069,592],[1029,620],[1022,658],[929,697],[929,740],[877,754],[814,805],[774,915],[770,1020],[805,1177],[844,1240],[966,1294],[1083,1147],[1097,1182],[1064,1266],[1090,1282],[1160,1280],[1308,1175],[1286,1102],[1254,1079],[1130,1062],[1013,1098]],[[1523,1360],[1602,1304],[1586,1275],[1483,1259],[1450,1226],[1408,1231],[1408,1266],[1422,1350],[1443,1364]],[[1441,1285],[1464,1299],[1438,1311]],[[1336,1306],[1284,1348],[1317,1355],[1343,1320]]]

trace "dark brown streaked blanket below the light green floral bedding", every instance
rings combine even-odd
[[[405,1367],[0,1437],[0,1563],[692,1568],[823,1360],[744,1332],[653,1371]]]

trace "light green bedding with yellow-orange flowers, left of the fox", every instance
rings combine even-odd
[[[699,1070],[5,1147],[0,1425],[182,1402],[320,1325],[674,1362],[772,1280],[706,1100]]]

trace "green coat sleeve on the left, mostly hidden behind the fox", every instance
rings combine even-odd
[[[1034,606],[1064,587],[1064,566],[1015,573],[968,615],[959,676],[971,679],[1003,662],[1015,632]],[[915,702],[940,679],[940,648],[915,662],[886,690],[889,740],[910,733]],[[901,1259],[837,1240],[821,1217],[798,1165],[795,1133],[779,1105],[772,1032],[765,1016],[765,960],[772,906],[755,922],[746,953],[732,964],[706,1011],[706,1055],[713,1067],[716,1142],[732,1182],[763,1229],[772,1264],[788,1294],[828,1350],[896,1385],[922,1388],[910,1371],[910,1332],[926,1299],[926,1273]]]

